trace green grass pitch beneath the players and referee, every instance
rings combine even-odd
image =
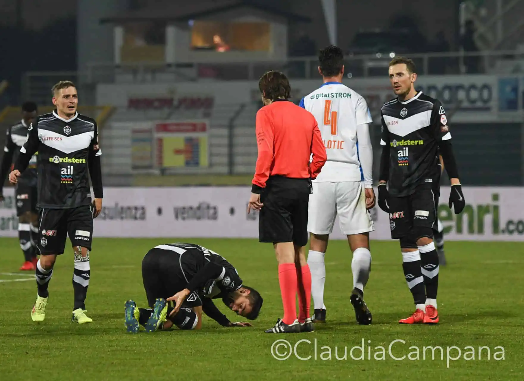
[[[264,298],[253,328],[222,328],[205,317],[200,332],[125,332],[124,302],[146,305],[141,259],[149,248],[170,242],[207,246],[236,266],[245,284]],[[255,240],[95,238],[86,300],[94,322],[70,322],[69,249],[57,260],[46,320],[37,324],[30,318],[35,280],[17,270],[23,258],[18,241],[0,238],[0,379],[522,380],[523,246],[447,242],[449,264],[440,270],[441,322],[409,326],[398,324],[413,311],[398,244],[372,242],[365,299],[373,324],[359,326],[349,302],[351,253],[345,242],[333,241],[326,255],[328,324],[317,325],[313,333],[270,335],[264,329],[282,315],[271,245]],[[215,302],[232,321],[240,320],[220,300]],[[274,345],[276,340],[287,343]],[[296,350],[287,360],[276,360],[274,355],[287,356],[289,345]],[[484,347],[480,353],[479,347]],[[309,360],[301,360],[305,358]]]

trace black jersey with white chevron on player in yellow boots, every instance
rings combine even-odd
[[[95,160],[100,168],[99,156],[102,155],[94,119],[76,113],[66,120],[54,110],[38,116],[28,129],[27,141],[19,155],[24,158],[16,162],[15,169],[23,172],[24,160],[38,151],[38,208],[68,209],[91,205],[88,172]],[[95,177],[91,175],[95,188]],[[100,188],[100,193],[101,183],[96,188]],[[95,197],[101,194],[95,191]]]

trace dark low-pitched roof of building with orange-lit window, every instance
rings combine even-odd
[[[211,2],[209,0],[184,2],[183,7],[176,3],[177,2],[173,2],[172,0],[164,0],[161,4],[155,4],[153,9],[139,9],[115,16],[103,17],[100,23],[115,24],[125,21],[188,21],[242,8],[244,8],[244,10],[257,10],[289,21],[311,22],[311,18],[283,10],[278,6],[271,5],[267,0],[263,3],[256,0],[222,1],[220,6],[216,5],[216,1]],[[276,4],[278,3],[279,2],[276,2]]]

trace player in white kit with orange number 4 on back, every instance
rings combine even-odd
[[[353,252],[353,291],[350,296],[359,324],[370,324],[372,315],[364,302],[371,253],[369,232],[374,230],[369,210],[375,206],[373,149],[369,136],[372,118],[364,98],[342,84],[344,55],[330,45],[319,53],[323,85],[304,96],[300,106],[318,123],[328,153],[320,175],[313,180],[309,198],[308,231],[311,233],[308,265],[314,322],[325,322],[324,255],[337,214]]]

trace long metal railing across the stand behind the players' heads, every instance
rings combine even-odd
[[[524,51],[437,52],[406,55],[424,75],[486,74],[497,71],[497,63],[505,60],[524,60]],[[394,53],[346,56],[345,73],[352,77],[378,77],[387,73]],[[292,57],[287,60],[257,60],[234,62],[136,62],[114,64],[91,62],[83,78],[89,83],[98,82],[155,82],[256,80],[267,70],[281,70],[288,77],[309,79],[318,77],[317,57]],[[521,69],[524,73],[524,66]]]

